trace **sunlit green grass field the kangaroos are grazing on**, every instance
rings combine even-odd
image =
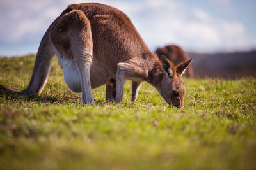
[[[24,89],[34,61],[0,58],[0,84]],[[148,83],[131,104],[131,81],[123,103],[90,106],[54,59],[40,96],[0,90],[0,169],[256,169],[256,79],[184,81],[183,110]]]

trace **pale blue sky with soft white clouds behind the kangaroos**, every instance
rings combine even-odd
[[[76,0],[0,0],[0,56],[36,53],[53,20]],[[100,0],[123,11],[153,52],[179,45],[187,52],[256,49],[255,0]]]

